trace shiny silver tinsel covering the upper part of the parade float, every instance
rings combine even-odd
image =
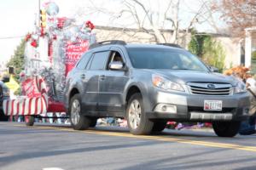
[[[46,9],[49,9],[47,29],[42,33],[43,28],[37,28],[36,32],[26,36],[26,41],[31,41],[29,45],[35,48],[32,49],[28,47],[29,45],[26,45],[25,73],[27,77],[33,77],[34,75],[44,77],[44,81],[47,84],[48,96],[54,100],[58,100],[59,96],[55,95],[56,90],[61,91],[57,94],[62,94],[66,83],[67,45],[81,45],[83,41],[88,41],[88,45],[90,45],[96,42],[96,35],[92,32],[95,26],[90,21],[84,22],[81,26],[76,26],[74,19],[68,19],[66,17],[57,18],[55,14],[58,9],[53,3],[51,3],[50,8],[46,6]],[[51,12],[50,9],[55,11]],[[49,56],[49,59],[45,60],[44,56],[40,56],[40,51],[36,48],[39,44],[37,42],[40,40],[39,36],[48,38],[48,41],[52,42],[52,47],[49,46],[49,48],[52,48],[52,54]],[[73,62],[77,62],[79,57],[73,59]]]

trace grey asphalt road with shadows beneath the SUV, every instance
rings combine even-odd
[[[73,131],[67,126],[0,122],[0,169],[254,170],[256,135],[229,139],[211,130],[165,130],[134,136],[120,127]]]

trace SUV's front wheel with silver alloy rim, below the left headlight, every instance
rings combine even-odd
[[[126,108],[126,117],[132,134],[143,135],[151,133],[154,122],[150,121],[144,112],[142,94],[131,95]]]

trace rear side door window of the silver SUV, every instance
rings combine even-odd
[[[90,64],[90,70],[103,70],[106,67],[108,59],[108,51],[98,52],[94,54]]]

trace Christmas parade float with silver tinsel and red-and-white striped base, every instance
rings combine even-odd
[[[20,73],[22,96],[3,101],[7,116],[26,116],[28,125],[34,116],[46,117],[47,112],[63,112],[63,89],[67,73],[96,42],[90,20],[77,24],[75,19],[57,16],[54,2],[44,3],[40,25],[25,37],[25,65]]]

